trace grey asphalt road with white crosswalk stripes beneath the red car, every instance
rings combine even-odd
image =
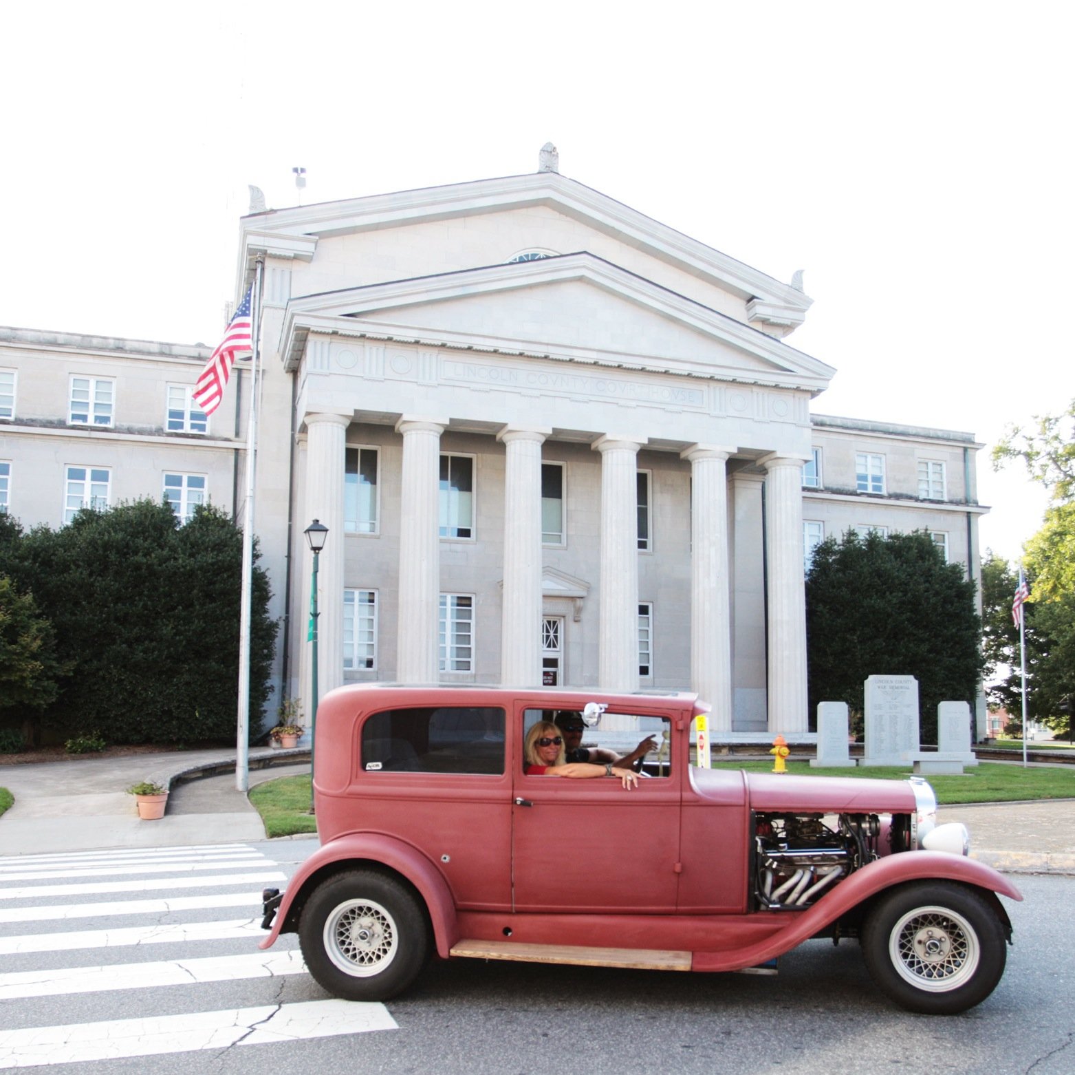
[[[71,862],[62,877],[39,871],[44,876],[37,878],[22,877],[37,867],[26,857],[20,866],[11,859],[0,863],[8,869],[0,887],[0,916],[8,913],[0,918],[0,945],[6,945],[0,960],[0,1066],[13,1041],[9,1032],[17,1029],[22,1065],[30,1059],[28,1034],[39,1041],[35,1062],[51,1066],[71,1055],[64,1049],[77,1050],[80,1038],[103,1035],[117,1053],[62,1064],[77,1075],[873,1075],[895,1064],[959,1075],[1075,1071],[1073,877],[1017,878],[1026,901],[1007,904],[1015,927],[1007,971],[993,995],[962,1016],[931,1018],[894,1008],[871,982],[857,944],[811,942],[785,957],[775,977],[434,963],[387,1005],[345,1005],[354,1024],[340,1032],[330,1026],[340,1009],[301,966],[287,962],[293,937],[270,950],[278,960],[272,974],[232,972],[266,966],[264,953],[256,954],[260,934],[249,932],[253,908],[244,901],[247,893],[256,899],[268,882],[254,878],[287,876],[314,847],[302,839],[204,852],[126,850],[119,853],[130,857],[129,864],[114,853],[78,860],[85,876],[74,876]],[[160,854],[201,854],[204,862],[187,867],[176,858],[160,866],[148,858]],[[60,880],[125,888],[52,891]],[[181,888],[181,881],[190,887]],[[206,905],[155,910],[156,895]],[[211,905],[229,899],[238,901],[230,908]],[[147,907],[134,914],[127,901]],[[101,914],[86,917],[94,909]],[[12,910],[37,919],[12,921]],[[235,920],[236,932],[225,933],[221,920]],[[178,925],[186,931],[183,939],[168,933]],[[142,932],[135,936],[129,932],[134,929]],[[77,970],[87,966],[95,970]],[[282,1014],[297,1012],[311,1015],[299,1030],[273,1031]],[[147,1039],[150,1032],[159,1034],[160,1024],[131,1030],[130,1020],[142,1016],[174,1022],[172,1044],[164,1041],[159,1055],[129,1055],[132,1033]],[[354,1022],[359,1016],[366,1022]],[[210,1047],[194,1049],[202,1033],[199,1020],[217,1020],[225,1029],[202,1043]],[[243,1029],[229,1035],[229,1026]],[[47,1030],[57,1027],[58,1033]]]

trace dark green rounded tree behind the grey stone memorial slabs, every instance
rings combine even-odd
[[[854,532],[814,550],[806,576],[811,712],[846,702],[861,715],[871,675],[918,680],[921,736],[936,741],[940,702],[972,707],[983,668],[975,584],[929,534]]]

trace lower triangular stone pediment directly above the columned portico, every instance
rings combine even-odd
[[[392,281],[287,307],[296,364],[310,331],[745,380],[818,392],[833,370],[773,337],[592,254]],[[298,349],[298,350],[297,350]]]

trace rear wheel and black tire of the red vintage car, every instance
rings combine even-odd
[[[299,921],[306,967],[348,1001],[387,1001],[414,981],[429,954],[425,908],[399,879],[350,869],[317,887]]]

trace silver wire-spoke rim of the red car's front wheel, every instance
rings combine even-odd
[[[918,907],[892,927],[889,954],[904,980],[937,993],[973,978],[981,949],[961,915],[946,907]]]

